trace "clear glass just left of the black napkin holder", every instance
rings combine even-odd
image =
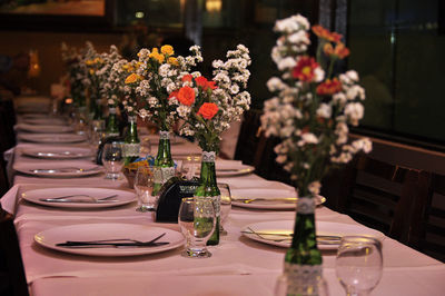
[[[148,167],[139,167],[134,181],[136,195],[138,196],[137,211],[152,211],[156,209],[157,196],[152,195],[154,176]]]

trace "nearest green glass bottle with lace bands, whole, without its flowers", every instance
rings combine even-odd
[[[294,226],[294,237],[285,256],[284,276],[288,296],[320,295],[323,282],[322,253],[317,248],[315,230],[315,199],[300,197]]]

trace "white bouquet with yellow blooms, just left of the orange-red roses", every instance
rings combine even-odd
[[[134,72],[126,78],[126,93],[138,98],[138,115],[156,122],[160,130],[169,130],[177,120],[178,106],[169,95],[179,87],[181,73],[202,60],[192,52],[194,56],[176,58],[174,48],[168,45],[151,51],[144,48],[138,52]]]

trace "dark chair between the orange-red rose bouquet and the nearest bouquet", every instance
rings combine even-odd
[[[261,110],[248,110],[239,130],[234,158],[245,165],[254,165],[255,151],[259,142]]]

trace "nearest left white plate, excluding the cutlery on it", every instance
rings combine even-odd
[[[140,241],[148,241],[155,237],[166,234],[158,241],[168,241],[168,245],[157,247],[101,247],[101,248],[67,248],[58,247],[56,244],[67,240],[100,240],[129,238]],[[78,224],[50,228],[34,235],[37,244],[65,253],[87,256],[136,256],[147,255],[177,248],[184,245],[184,236],[175,230],[136,224]]]

